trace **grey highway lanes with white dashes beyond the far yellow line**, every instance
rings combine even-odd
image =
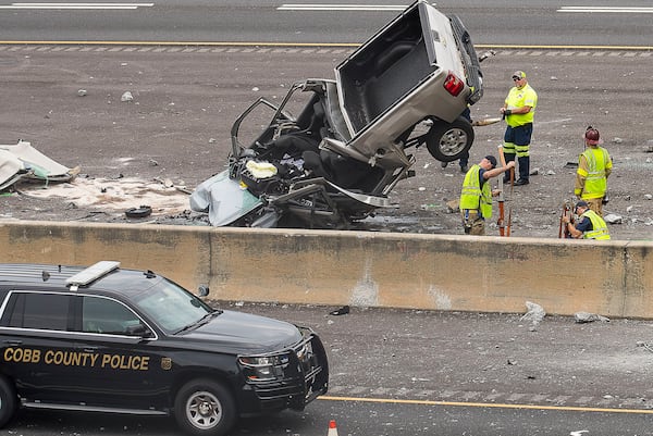
[[[372,1],[8,2],[3,41],[237,41],[360,43],[412,3]],[[653,8],[571,1],[438,1],[457,14],[476,43],[504,46],[643,46],[651,49]],[[587,3],[587,2],[586,2]]]

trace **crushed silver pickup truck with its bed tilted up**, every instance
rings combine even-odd
[[[200,184],[190,208],[214,226],[348,228],[395,207],[389,194],[415,175],[411,148],[442,162],[469,150],[463,114],[482,95],[461,21],[418,0],[340,63],[335,80],[298,82],[281,104],[260,98],[246,109],[229,170]]]

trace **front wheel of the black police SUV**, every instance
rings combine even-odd
[[[174,415],[180,427],[188,434],[221,436],[234,425],[236,407],[223,385],[197,379],[187,383],[177,393]]]

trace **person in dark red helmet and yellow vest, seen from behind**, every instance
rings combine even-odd
[[[586,150],[578,157],[574,194],[586,201],[590,209],[603,216],[606,200],[607,177],[612,173],[612,158],[603,144],[599,130],[589,126],[584,133]]]

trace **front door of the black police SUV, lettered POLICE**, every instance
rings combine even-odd
[[[81,295],[75,312],[78,350],[93,357],[78,379],[87,402],[143,410],[163,404],[169,377],[147,323],[123,302],[102,296]]]

